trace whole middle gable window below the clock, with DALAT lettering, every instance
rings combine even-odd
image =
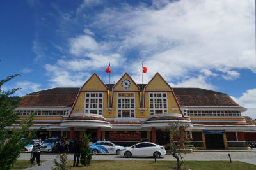
[[[117,94],[117,117],[135,117],[135,95],[134,93]]]

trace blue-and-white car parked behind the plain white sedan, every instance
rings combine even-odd
[[[92,155],[97,155],[98,153],[116,153],[116,155],[120,155],[120,150],[124,148],[124,146],[117,146],[110,141],[97,141],[88,146]]]

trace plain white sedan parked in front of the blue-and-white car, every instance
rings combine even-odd
[[[163,146],[150,142],[137,143],[131,147],[125,147],[120,150],[123,157],[161,157],[166,154]]]

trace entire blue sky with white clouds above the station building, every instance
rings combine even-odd
[[[255,1],[1,1],[1,79],[17,95],[156,72],[172,87],[225,92],[256,118]]]

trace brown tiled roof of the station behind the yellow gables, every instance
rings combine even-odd
[[[112,89],[114,84],[110,84]],[[141,90],[146,84],[138,84]],[[109,84],[106,84],[109,87]],[[72,106],[79,88],[56,87],[31,92],[22,98],[20,106]],[[173,88],[180,106],[239,106],[227,94],[200,88]]]

